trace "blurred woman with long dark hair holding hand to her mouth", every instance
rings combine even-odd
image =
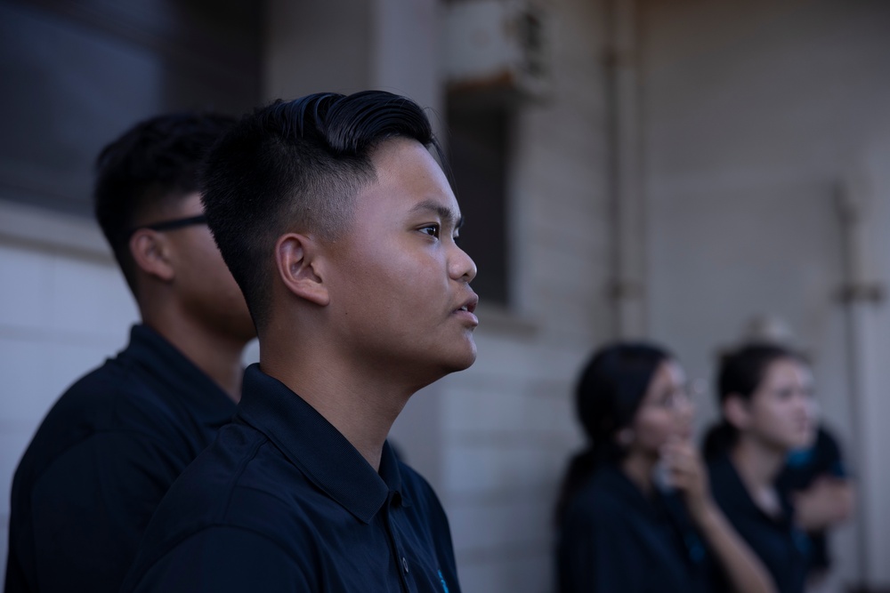
[[[763,565],[711,500],[692,446],[692,401],[667,351],[595,353],[576,389],[587,448],[570,462],[556,515],[561,593],[773,591]]]

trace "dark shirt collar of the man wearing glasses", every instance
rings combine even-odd
[[[146,367],[152,378],[172,394],[201,424],[219,428],[231,421],[235,402],[173,344],[146,325],[134,325],[125,355]]]

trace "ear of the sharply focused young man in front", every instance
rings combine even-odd
[[[275,263],[287,290],[306,301],[325,307],[330,302],[328,287],[318,273],[315,257],[318,245],[296,233],[279,236],[275,243]]]

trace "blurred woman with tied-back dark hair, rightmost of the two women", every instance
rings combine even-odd
[[[717,379],[721,420],[704,450],[711,490],[781,593],[805,589],[805,536],[775,486],[788,453],[813,440],[813,379],[803,357],[773,344],[724,356]]]

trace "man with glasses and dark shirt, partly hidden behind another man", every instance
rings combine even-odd
[[[233,123],[159,116],[98,158],[96,217],[142,325],[56,402],[20,461],[6,593],[117,591],[167,488],[235,412],[255,330],[196,191]]]

